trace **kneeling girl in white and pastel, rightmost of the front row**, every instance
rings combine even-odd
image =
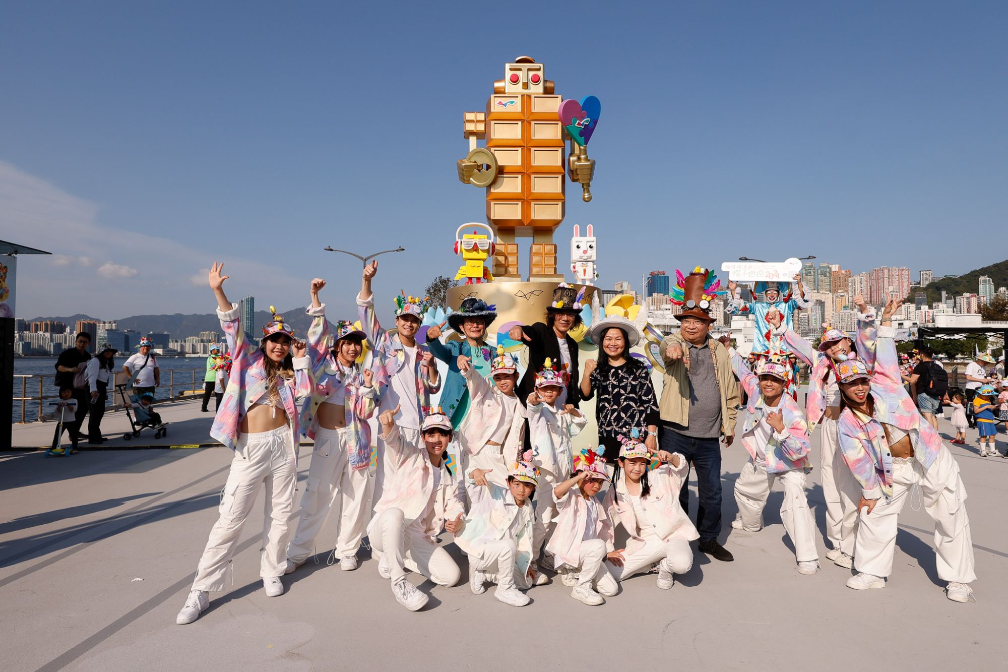
[[[620,437],[619,462],[613,470],[613,486],[606,492],[605,510],[612,521],[606,527],[609,573],[617,581],[650,570],[658,563],[658,587],[674,584],[673,574],[692,567],[689,542],[699,539],[697,528],[679,506],[686,461],[678,453],[658,451],[661,464],[648,471],[651,454],[635,428],[630,437]],[[626,548],[614,550],[615,528],[622,524],[630,539]]]

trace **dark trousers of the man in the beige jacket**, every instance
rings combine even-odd
[[[686,464],[697,470],[697,491],[700,494],[697,532],[700,533],[701,543],[716,540],[721,534],[720,439],[697,439],[663,427],[658,442],[662,450],[681,453],[686,458]],[[688,479],[687,470],[679,490],[679,505],[686,515],[689,514],[689,488],[685,484]]]

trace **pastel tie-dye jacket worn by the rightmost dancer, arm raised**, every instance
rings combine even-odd
[[[871,395],[875,415],[864,423],[847,408],[837,421],[844,461],[861,483],[866,499],[892,496],[892,453],[883,424],[907,432],[914,458],[925,469],[931,466],[942,448],[941,437],[923,420],[903,387],[894,337],[892,327],[876,328],[874,320],[864,325],[858,338],[858,354],[869,369],[874,368]]]

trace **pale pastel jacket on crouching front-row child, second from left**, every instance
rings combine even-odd
[[[456,545],[468,555],[480,557],[490,542],[510,539],[511,526],[517,520],[514,543],[518,547],[518,557],[514,578],[518,587],[530,588],[528,567],[532,563],[532,527],[535,524],[531,500],[519,507],[508,488],[493,483],[477,485],[469,478],[466,479],[466,491],[472,506],[465,527],[455,537]]]

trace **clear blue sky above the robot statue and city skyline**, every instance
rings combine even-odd
[[[590,204],[599,284],[748,255],[935,274],[1004,259],[1008,5],[1000,2],[8,3],[0,237],[21,317],[209,312],[234,297],[334,312],[350,257],[376,293],[454,274],[483,192],[462,114],[504,64],[602,100]],[[978,243],[966,231],[987,231]],[[1000,242],[999,242],[1000,241]],[[524,263],[524,260],[523,260]]]

